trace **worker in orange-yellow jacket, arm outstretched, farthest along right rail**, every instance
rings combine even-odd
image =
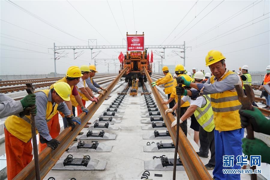
[[[154,87],[155,85],[164,84],[164,92],[165,92],[165,95],[168,95],[168,99],[169,99],[171,96],[172,90],[173,90],[174,78],[171,75],[171,73],[169,73],[168,66],[163,66],[162,71],[163,71],[163,74],[165,75],[165,77],[162,77],[162,78],[157,79],[156,81],[152,82],[152,86]],[[171,101],[169,103],[169,108],[171,109],[172,107],[174,107],[174,101]],[[173,115],[174,115],[174,113],[173,113]]]

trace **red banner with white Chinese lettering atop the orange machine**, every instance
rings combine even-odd
[[[126,51],[144,51],[144,36],[127,36]]]

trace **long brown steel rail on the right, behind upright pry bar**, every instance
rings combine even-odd
[[[144,72],[146,74],[149,84],[151,84],[151,77],[145,68]],[[156,103],[158,104],[160,113],[162,114],[168,131],[171,135],[171,139],[174,144],[176,144],[176,127],[171,128],[171,123],[175,120],[174,116],[171,113],[165,115],[165,110],[168,109],[168,107],[165,104],[161,104],[162,97],[158,93],[157,88],[152,86],[150,86],[150,88],[156,99]],[[182,161],[182,164],[186,170],[189,179],[213,179],[181,129],[179,132],[178,155]]]

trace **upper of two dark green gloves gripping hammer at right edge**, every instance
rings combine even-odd
[[[250,121],[254,131],[269,135],[270,120],[266,119],[258,108],[252,107],[252,110],[243,110],[241,107],[239,114],[242,128],[246,128]]]

